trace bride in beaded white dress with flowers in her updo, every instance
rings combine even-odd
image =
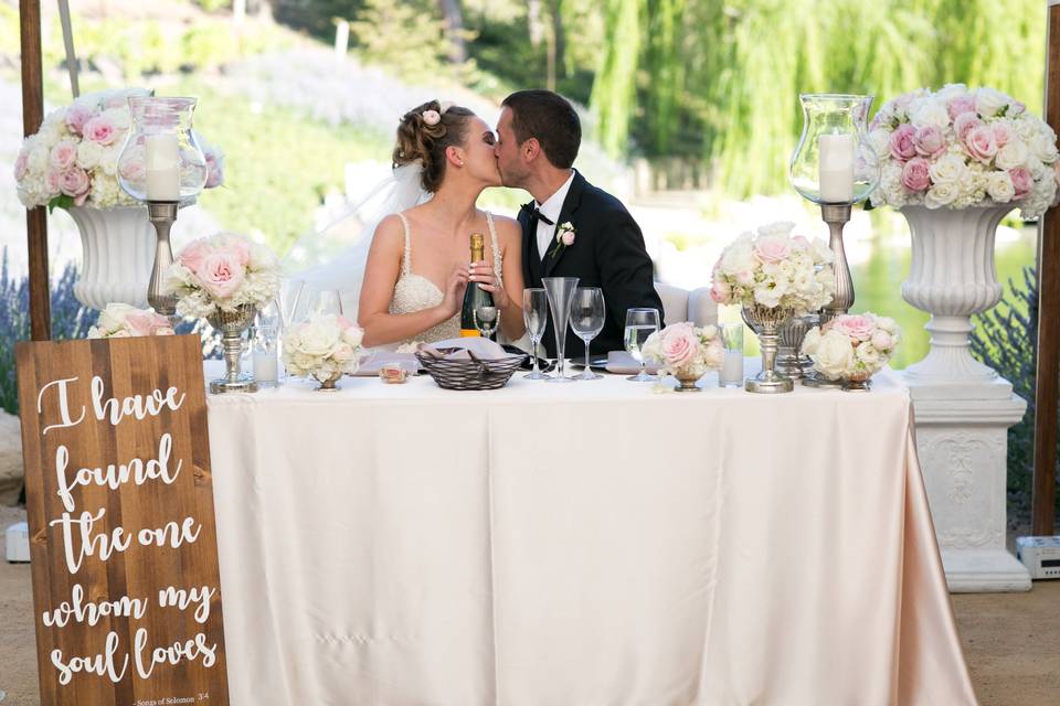
[[[467,108],[431,100],[402,117],[394,168],[418,172],[431,196],[375,227],[358,308],[365,345],[457,338],[469,286],[494,296],[509,340],[522,335],[522,231],[475,206],[484,189],[500,185],[494,142]],[[471,233],[486,235],[479,263],[468,263]]]

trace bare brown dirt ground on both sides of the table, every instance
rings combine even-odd
[[[0,507],[0,532],[24,513]],[[1028,593],[953,596],[983,706],[1060,704],[1060,580]],[[0,560],[0,706],[39,706],[30,565]],[[944,706],[944,705],[939,705]]]

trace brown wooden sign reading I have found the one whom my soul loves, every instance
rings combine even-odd
[[[199,340],[19,343],[41,703],[229,703]]]

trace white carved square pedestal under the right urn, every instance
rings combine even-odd
[[[1007,432],[1027,403],[1000,377],[948,385],[905,379],[950,590],[1030,590],[1030,575],[1006,549]]]

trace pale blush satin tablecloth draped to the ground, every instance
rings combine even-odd
[[[210,397],[233,704],[975,703],[891,377],[341,386]]]

